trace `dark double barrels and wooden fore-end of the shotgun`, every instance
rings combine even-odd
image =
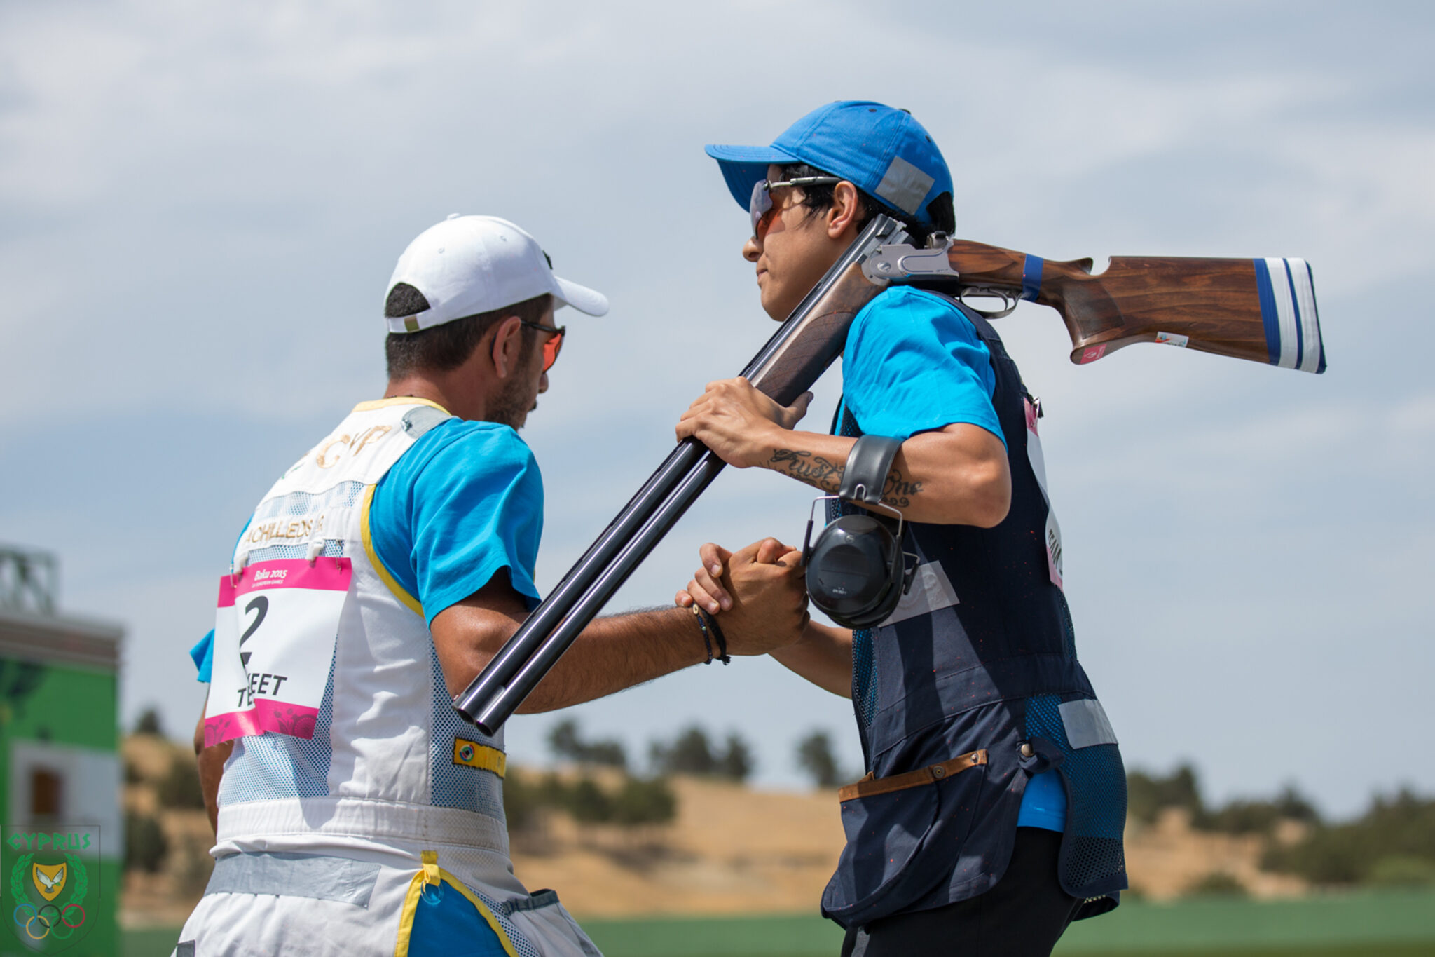
[[[895,220],[874,217],[740,374],[775,402],[795,402],[842,353],[852,319],[881,291],[862,275],[862,261],[905,241]],[[702,442],[679,442],[453,707],[486,735],[502,727],[722,468]]]

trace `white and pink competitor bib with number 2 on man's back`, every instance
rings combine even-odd
[[[220,578],[204,745],[313,737],[349,593],[349,558],[261,561]]]

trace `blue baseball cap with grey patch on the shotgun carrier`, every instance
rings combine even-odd
[[[707,155],[722,166],[732,198],[743,209],[752,188],[768,178],[769,164],[805,162],[936,227],[927,205],[951,192],[951,172],[937,143],[911,113],[868,100],[821,106],[772,141],[771,146],[715,146]]]

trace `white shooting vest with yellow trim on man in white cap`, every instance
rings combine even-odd
[[[225,651],[217,626],[207,709],[214,737],[225,720],[248,722],[224,768],[217,855],[392,851],[405,844],[508,854],[502,732],[488,737],[456,716],[422,608],[382,565],[369,535],[379,479],[448,418],[419,399],[360,403],[254,509],[228,578],[238,594],[237,627],[243,633],[255,626],[241,647],[250,656],[243,674],[258,694],[251,694],[250,712],[220,713],[231,699],[215,697],[230,693],[220,677]],[[255,580],[287,575],[303,585],[320,574],[329,575],[327,594],[324,581],[307,595],[304,587],[254,590]],[[268,598],[267,617],[257,624],[257,610],[247,611],[251,595]],[[306,626],[298,640],[294,623],[306,616],[317,624]],[[222,624],[222,607],[220,617]],[[267,633],[274,627],[280,630]],[[286,649],[286,641],[301,647]],[[271,673],[287,680],[265,700],[263,689],[273,682],[261,676]],[[304,677],[311,699],[283,702]],[[277,717],[267,719],[270,713]],[[254,733],[260,727],[267,733]]]

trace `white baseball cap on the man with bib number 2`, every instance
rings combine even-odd
[[[418,296],[412,290],[393,296],[399,283]],[[554,275],[538,241],[508,220],[455,212],[420,232],[399,257],[385,293],[385,319],[390,333],[416,333],[544,293],[552,294],[554,308],[573,306],[588,316],[608,311],[603,293]],[[412,311],[389,316],[390,303],[405,303]]]

